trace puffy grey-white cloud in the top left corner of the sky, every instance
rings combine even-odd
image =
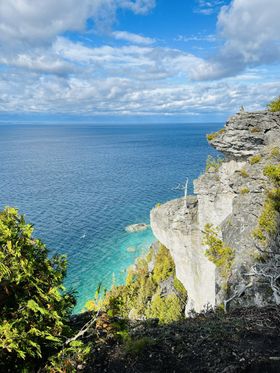
[[[88,18],[110,27],[118,8],[145,14],[154,0],[1,0],[0,40],[41,43],[64,31],[83,30]]]

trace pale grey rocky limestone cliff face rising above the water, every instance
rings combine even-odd
[[[276,232],[256,238],[267,191],[274,186],[264,169],[280,162],[280,114],[239,113],[208,140],[224,155],[222,164],[209,165],[194,182],[196,196],[170,201],[151,211],[155,236],[171,252],[179,280],[188,291],[186,313],[200,312],[233,297],[236,305],[265,305],[276,300],[267,278],[252,275],[254,267],[280,254],[279,212],[273,211]],[[269,220],[269,212],[268,212]],[[234,252],[225,276],[205,255],[205,227]],[[270,232],[271,233],[271,232]],[[266,233],[265,233],[266,234]],[[264,255],[264,252],[266,253]],[[269,255],[267,254],[269,253]],[[260,260],[261,258],[261,260]],[[241,297],[242,295],[242,297]]]

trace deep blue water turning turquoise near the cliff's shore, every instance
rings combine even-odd
[[[68,255],[66,285],[78,291],[79,311],[99,281],[122,281],[153,242],[150,230],[124,228],[148,223],[156,203],[181,195],[172,188],[204,170],[215,153],[205,134],[220,127],[2,124],[0,207],[18,207],[51,253]]]

